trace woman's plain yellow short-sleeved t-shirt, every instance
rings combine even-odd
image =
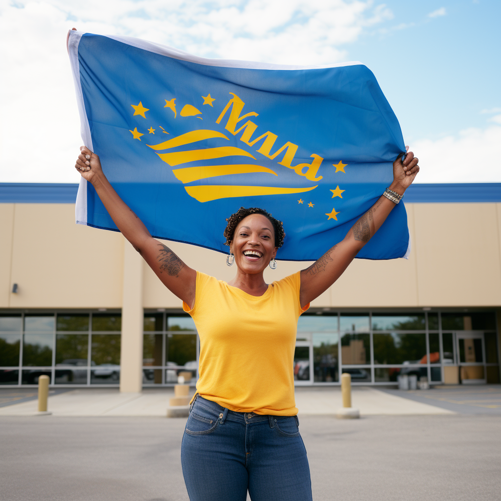
[[[196,272],[195,305],[183,309],[200,336],[197,393],[236,412],[295,416],[294,350],[300,273],[256,297]]]

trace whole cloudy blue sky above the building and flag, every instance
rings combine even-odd
[[[0,182],[78,182],[66,34],[278,64],[360,61],[419,158],[416,182],[501,182],[499,0],[0,0]]]

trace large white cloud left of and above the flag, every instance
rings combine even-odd
[[[0,17],[0,181],[77,182],[72,27],[209,58],[321,65],[343,61],[344,45],[392,13],[371,0],[18,0],[1,2]]]

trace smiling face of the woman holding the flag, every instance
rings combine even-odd
[[[268,217],[250,214],[236,226],[230,245],[238,269],[244,273],[261,273],[275,258],[275,230]]]

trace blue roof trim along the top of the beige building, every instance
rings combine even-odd
[[[75,203],[75,183],[0,183],[0,203]],[[501,202],[501,183],[412,184],[406,203]]]

